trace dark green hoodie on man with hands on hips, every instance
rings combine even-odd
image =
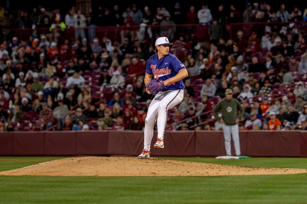
[[[239,118],[243,117],[244,109],[237,99],[231,98],[227,100],[226,98],[220,100],[213,108],[214,117],[220,121],[220,117],[217,115],[217,111],[221,111],[222,118],[226,125],[235,125],[235,119],[237,118],[237,110],[240,110]]]

